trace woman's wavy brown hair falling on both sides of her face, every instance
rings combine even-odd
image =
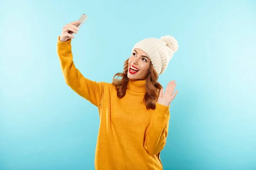
[[[122,73],[116,73],[113,77],[112,85],[115,86],[117,91],[117,96],[121,99],[126,94],[126,89],[128,85],[129,78],[127,76],[128,73],[128,60],[124,63],[124,70]],[[122,77],[121,79],[115,78]],[[160,85],[158,80],[158,74],[154,70],[152,62],[150,62],[148,75],[146,77],[146,94],[144,96],[144,102],[147,109],[155,109],[156,102],[159,96],[159,92],[161,90],[162,85]]]

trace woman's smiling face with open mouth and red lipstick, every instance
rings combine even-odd
[[[149,65],[148,55],[140,49],[134,49],[128,60],[128,78],[145,79],[148,75]]]

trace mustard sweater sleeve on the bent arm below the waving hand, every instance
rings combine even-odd
[[[159,153],[166,144],[170,119],[169,106],[157,103],[153,114],[144,140],[144,148],[150,155]]]

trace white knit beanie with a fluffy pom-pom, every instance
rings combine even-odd
[[[179,45],[174,37],[166,35],[160,39],[146,38],[141,40],[134,45],[132,51],[136,48],[148,55],[157,74],[163,74]]]

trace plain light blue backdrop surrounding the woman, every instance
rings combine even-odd
[[[85,77],[111,82],[133,45],[180,45],[160,83],[176,80],[164,170],[256,169],[256,1],[1,2],[0,170],[93,170],[99,113],[64,81],[62,27]]]

